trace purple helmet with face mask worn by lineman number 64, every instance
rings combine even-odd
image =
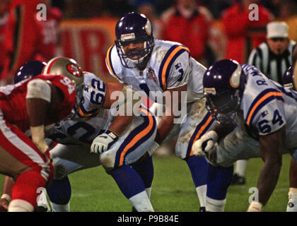
[[[216,61],[203,77],[206,107],[220,122],[233,121],[245,87],[245,73],[237,61]]]

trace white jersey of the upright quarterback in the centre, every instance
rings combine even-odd
[[[178,88],[187,84],[187,102],[199,99],[203,94],[202,78],[206,68],[190,56],[190,50],[178,42],[155,40],[153,52],[144,71],[127,69],[121,64],[117,48],[110,47],[106,56],[107,69],[121,83],[131,85],[146,96],[156,92]],[[128,60],[128,65],[132,66]],[[151,93],[150,93],[151,92]],[[156,98],[151,98],[156,102]]]

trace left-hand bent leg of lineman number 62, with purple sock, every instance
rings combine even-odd
[[[54,180],[47,186],[54,212],[69,212],[71,184],[68,174],[100,165],[99,155],[90,153],[90,145],[56,145],[51,151],[55,167]]]

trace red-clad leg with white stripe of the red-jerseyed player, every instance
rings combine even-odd
[[[42,155],[33,141],[0,119],[0,171],[13,177],[8,211],[33,211],[37,189],[45,187],[53,174],[48,155]]]

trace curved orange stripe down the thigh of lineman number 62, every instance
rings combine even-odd
[[[151,114],[149,114],[149,112],[145,109],[141,109],[141,107],[139,107],[139,111],[144,112],[144,114],[146,114],[148,116],[148,126],[146,126],[146,129],[144,129],[143,131],[141,131],[141,133],[137,134],[132,141],[130,141],[127,146],[124,148],[124,150],[122,151],[121,155],[120,155],[120,165],[122,166],[124,163],[124,155],[127,153],[127,151],[133,147],[133,145],[135,145],[139,140],[141,140],[141,138],[143,138],[144,136],[146,136],[146,134],[148,134],[151,129],[153,128],[153,117]]]

